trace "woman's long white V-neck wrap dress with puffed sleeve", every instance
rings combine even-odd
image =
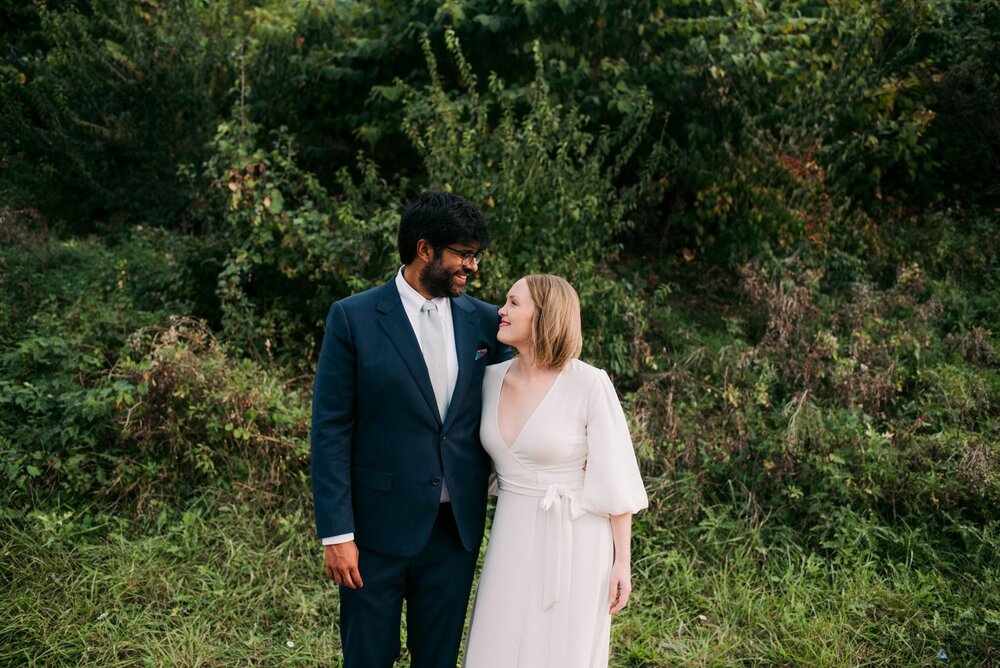
[[[483,380],[499,495],[464,666],[607,666],[609,517],[647,505],[625,414],[607,373],[574,359],[508,445],[497,405],[512,362]]]

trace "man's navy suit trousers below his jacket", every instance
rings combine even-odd
[[[359,552],[365,586],[340,587],[344,668],[393,665],[404,598],[412,668],[455,668],[478,550],[462,546],[451,504],[441,504],[431,536],[415,557]]]

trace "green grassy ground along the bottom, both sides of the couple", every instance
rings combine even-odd
[[[200,508],[4,519],[0,664],[339,665],[337,597],[308,510]],[[707,517],[637,526],[636,593],[614,623],[613,666],[1000,661],[995,570],[820,555],[728,509]]]

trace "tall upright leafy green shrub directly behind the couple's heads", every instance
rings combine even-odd
[[[580,294],[586,355],[615,373],[634,372],[637,295],[627,279],[615,280],[614,264],[616,239],[629,226],[638,188],[619,189],[615,181],[649,122],[647,96],[635,96],[614,131],[595,135],[577,109],[552,102],[537,50],[531,84],[508,91],[493,76],[489,97],[481,97],[455,34],[447,32],[446,40],[464,89],[445,89],[425,42],[432,83],[423,90],[404,87],[404,127],[431,186],[462,193],[483,208],[496,242],[482,292],[502,302],[525,274],[565,277]]]

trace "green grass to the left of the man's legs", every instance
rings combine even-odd
[[[7,518],[0,663],[334,665],[337,597],[304,518],[222,502]]]

